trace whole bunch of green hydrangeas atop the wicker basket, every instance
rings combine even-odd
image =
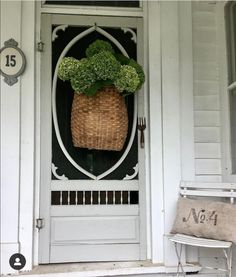
[[[142,67],[133,59],[115,53],[107,41],[96,40],[86,49],[87,58],[62,59],[58,78],[70,81],[76,93],[95,95],[103,86],[115,85],[122,95],[139,90],[145,81]]]

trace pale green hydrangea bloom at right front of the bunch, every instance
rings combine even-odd
[[[139,77],[135,68],[130,65],[122,65],[114,84],[117,89],[133,93],[139,85]]]

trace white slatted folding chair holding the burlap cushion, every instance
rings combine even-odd
[[[230,203],[234,203],[236,198],[236,184],[231,183],[197,183],[182,181],[180,185],[180,195],[187,196],[205,196],[205,197],[221,197],[228,198]],[[221,249],[226,258],[226,267],[212,268],[204,267],[208,269],[216,269],[227,273],[228,277],[232,277],[232,242],[221,241],[215,239],[198,238],[194,236],[187,236],[183,234],[170,235],[169,240],[175,244],[175,252],[178,259],[177,274],[179,276],[180,271],[183,276],[186,276],[183,265],[181,262],[183,245],[190,245],[196,247],[216,248]],[[179,245],[179,249],[178,249]]]

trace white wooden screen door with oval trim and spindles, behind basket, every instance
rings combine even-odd
[[[76,148],[73,90],[57,79],[61,57],[77,59],[96,39],[142,63],[142,19],[42,15],[40,263],[146,259],[145,163],[136,128],[143,92],[126,97],[122,151]]]

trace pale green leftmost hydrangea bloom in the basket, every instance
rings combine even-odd
[[[58,78],[62,81],[70,80],[78,69],[80,62],[72,57],[65,57],[58,67]]]

